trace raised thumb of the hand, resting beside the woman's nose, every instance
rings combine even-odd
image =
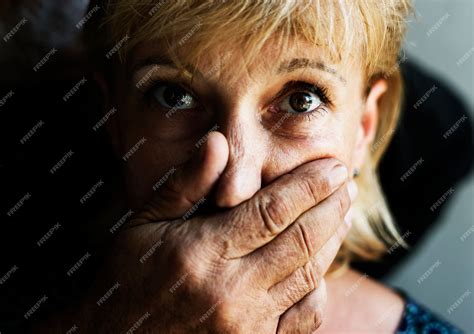
[[[210,132],[198,152],[152,195],[140,216],[152,221],[182,217],[211,191],[228,156],[227,139],[220,132]]]

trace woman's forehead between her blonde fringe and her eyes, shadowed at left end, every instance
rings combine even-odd
[[[361,60],[351,55],[336,61],[324,46],[310,43],[303,39],[293,38],[282,47],[277,37],[270,38],[260,49],[251,63],[242,61],[243,48],[236,44],[225,44],[208,49],[195,63],[186,63],[192,47],[183,47],[175,58],[163,52],[160,42],[141,43],[130,57],[132,72],[146,66],[159,65],[164,68],[183,69],[189,77],[200,77],[206,80],[222,80],[241,76],[254,78],[262,76],[283,75],[294,71],[314,70],[338,84],[346,84],[348,78],[354,78],[361,71]],[[184,61],[182,61],[184,59]]]

